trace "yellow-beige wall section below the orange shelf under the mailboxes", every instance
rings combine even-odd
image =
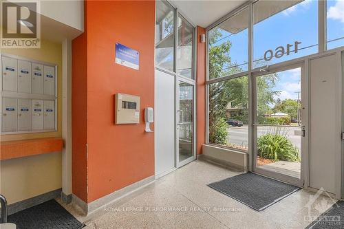
[[[1,161],[0,193],[8,204],[61,188],[61,153]]]

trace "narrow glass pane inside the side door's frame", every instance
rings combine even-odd
[[[179,83],[179,162],[193,157],[193,85]]]

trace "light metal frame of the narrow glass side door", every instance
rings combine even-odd
[[[193,86],[193,137],[192,137],[192,151],[193,155],[186,160],[180,162],[179,161],[179,131],[178,131],[178,122],[179,122],[179,83],[188,83],[189,85]],[[190,78],[186,78],[184,76],[176,76],[175,77],[175,167],[180,168],[190,162],[196,160],[196,84],[195,80]]]

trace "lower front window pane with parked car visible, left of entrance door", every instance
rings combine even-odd
[[[248,150],[248,76],[209,85],[209,142]]]

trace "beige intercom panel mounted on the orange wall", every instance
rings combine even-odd
[[[116,124],[140,122],[140,96],[116,94]]]

